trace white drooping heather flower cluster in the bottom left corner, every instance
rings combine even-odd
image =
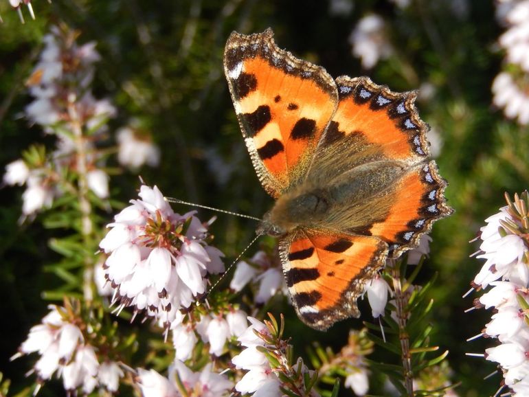
[[[76,394],[78,390],[90,394],[95,387],[116,392],[124,374],[119,365],[108,359],[100,363],[95,348],[78,326],[81,321],[72,310],[55,305],[50,305],[49,309],[42,323],[31,328],[19,353],[12,359],[34,352],[41,355],[32,370],[37,376],[38,387],[56,373],[63,378],[69,394]]]

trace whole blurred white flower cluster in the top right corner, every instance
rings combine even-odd
[[[507,29],[499,37],[505,67],[495,78],[493,103],[510,119],[529,124],[529,0],[499,2],[497,16]]]

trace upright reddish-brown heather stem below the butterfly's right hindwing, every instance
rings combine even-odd
[[[406,330],[407,322],[407,297],[403,291],[401,283],[401,271],[396,266],[394,259],[388,260],[393,280],[393,290],[395,293],[396,317],[398,321],[398,339],[401,341],[401,359],[403,362],[404,386],[409,397],[414,397],[413,372],[412,372],[412,354],[409,351],[409,335]]]

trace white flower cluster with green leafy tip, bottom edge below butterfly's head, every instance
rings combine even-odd
[[[238,337],[244,349],[234,356],[236,369],[247,371],[235,385],[241,394],[254,397],[284,396],[284,391],[295,396],[319,396],[313,389],[317,374],[309,371],[301,359],[294,365],[289,363],[286,350],[290,349],[282,338],[283,319],[278,325],[269,314],[271,321],[262,323],[248,317],[250,326]]]

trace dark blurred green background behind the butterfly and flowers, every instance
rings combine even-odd
[[[438,273],[432,343],[450,351],[453,380],[462,383],[460,396],[492,395],[500,376],[483,378],[495,365],[464,355],[493,344],[465,341],[480,333],[491,315],[484,310],[463,313],[477,295],[462,295],[481,267],[479,260],[469,258],[477,249],[469,240],[504,205],[504,192],[521,192],[529,179],[527,128],[506,120],[491,105],[491,83],[503,56],[495,45],[503,30],[495,19],[495,5],[483,0],[412,0],[406,8],[389,0],[345,3],[352,8],[337,14],[326,0],[36,1],[36,21],[24,9],[22,25],[8,1],[2,1],[0,165],[18,159],[34,142],[53,144],[40,128],[27,124],[22,112],[30,102],[24,82],[42,36],[58,22],[80,30],[80,43],[97,41],[102,60],[94,92],[117,106],[111,128],[136,117],[161,148],[161,165],[140,172],[146,183],[158,185],[168,196],[254,216],[261,216],[272,201],[249,161],[223,76],[223,49],[232,30],[250,33],[272,27],[280,47],[324,66],[335,77],[368,75],[394,91],[423,87],[429,93],[420,97],[418,108],[442,141],[436,161],[449,181],[447,197],[456,210],[436,223],[431,256],[420,276],[429,280]],[[372,13],[387,23],[394,52],[365,70],[352,55],[348,38],[358,21]],[[113,177],[111,190],[128,201],[138,184],[137,175],[121,174]],[[17,225],[21,192],[0,190],[0,371],[12,379],[12,392],[27,384],[23,374],[31,361],[9,363],[8,358],[46,313],[40,291],[56,282],[45,272],[55,255],[47,248],[50,231],[38,221]],[[189,210],[173,207],[180,213]],[[251,221],[221,215],[212,231],[216,245],[234,258],[254,229]],[[348,328],[361,326],[361,321],[350,320],[327,333],[309,332],[291,321],[291,307],[282,310],[286,334],[300,354],[315,339],[339,347]],[[363,313],[370,321],[370,311]]]

